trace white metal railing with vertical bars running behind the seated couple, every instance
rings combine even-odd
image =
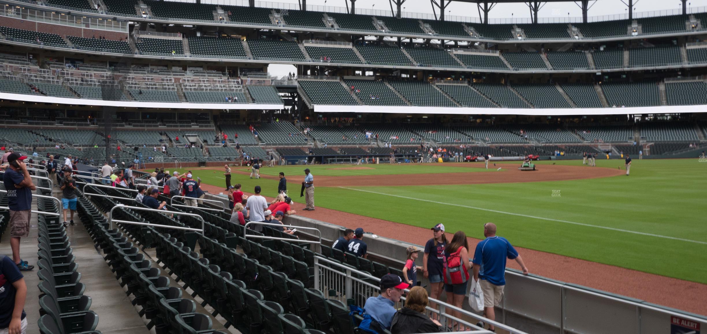
[[[335,269],[336,267],[339,267]],[[380,278],[376,278],[363,271],[356,270],[351,267],[346,267],[331,261],[322,256],[315,256],[314,258],[314,287],[320,291],[333,290],[338,292],[333,299],[341,300],[341,302],[346,303],[346,299],[354,299],[356,304],[363,304],[362,300],[356,300],[356,298],[377,297],[380,291]],[[331,293],[329,294],[331,295]],[[404,298],[402,298],[404,300]],[[431,314],[437,314],[440,323],[443,326],[451,326],[452,323],[457,323],[457,326],[467,326],[474,328],[474,330],[484,330],[484,328],[479,328],[476,326],[478,321],[484,321],[484,323],[489,323],[496,328],[501,328],[510,334],[525,334],[522,330],[515,329],[510,326],[506,326],[503,323],[498,323],[496,321],[484,318],[474,314],[473,312],[460,309],[451,304],[445,302],[440,302],[437,299],[430,298],[431,303],[437,304],[437,309],[433,309],[428,306],[427,310]],[[399,309],[402,305],[397,305],[396,309]],[[463,318],[457,318],[447,313],[447,311],[456,311],[461,314]],[[469,321],[469,319],[472,319]],[[484,332],[472,332],[472,333],[484,333]]]

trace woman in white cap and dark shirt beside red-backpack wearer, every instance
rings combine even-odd
[[[439,299],[444,287],[442,268],[444,267],[444,249],[447,246],[447,237],[444,234],[444,225],[437,224],[432,227],[432,239],[425,244],[425,254],[422,256],[423,275],[430,280],[430,297]],[[432,308],[437,304],[432,303]],[[432,314],[436,318],[436,314]]]

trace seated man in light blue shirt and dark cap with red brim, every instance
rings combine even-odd
[[[403,290],[410,285],[402,281],[398,275],[385,274],[380,278],[380,294],[378,297],[368,297],[363,311],[377,321],[380,326],[390,330],[390,323],[395,316],[395,303],[400,301]]]

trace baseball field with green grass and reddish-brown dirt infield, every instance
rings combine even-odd
[[[535,172],[518,165],[308,167],[317,208],[417,227],[443,222],[478,239],[484,222],[496,222],[515,246],[707,284],[707,162],[635,159],[628,177],[623,160],[543,161]],[[232,183],[274,196],[284,172],[293,201],[304,203],[303,169],[262,167],[262,178],[250,179],[247,167],[234,167]],[[224,190],[223,168],[191,170]]]

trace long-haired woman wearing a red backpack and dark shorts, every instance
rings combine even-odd
[[[445,254],[447,257],[444,266],[444,290],[447,292],[447,302],[461,309],[464,295],[467,294],[468,290],[469,270],[472,269],[472,263],[469,262],[467,234],[457,231],[452,237],[452,241],[447,245]],[[449,310],[448,312],[457,318],[461,316],[457,311]],[[469,329],[457,328],[457,330]]]

